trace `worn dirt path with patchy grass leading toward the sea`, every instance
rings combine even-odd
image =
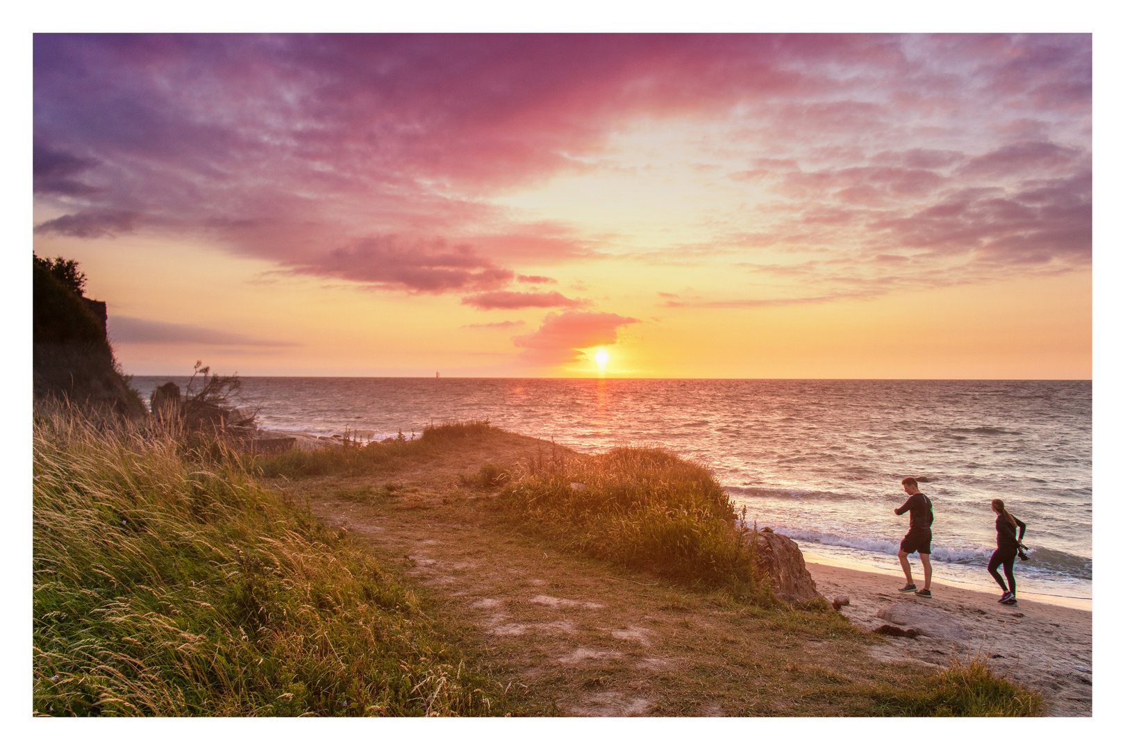
[[[550,450],[505,434],[453,460],[279,487],[399,561],[532,715],[871,714],[873,688],[907,685],[955,651],[903,654],[879,636],[813,632],[802,615],[763,617],[721,591],[560,553],[498,530],[458,482]]]

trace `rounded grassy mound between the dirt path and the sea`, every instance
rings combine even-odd
[[[508,484],[507,478],[514,477]],[[706,468],[649,448],[486,466],[466,484],[505,485],[494,507],[536,534],[603,560],[772,603],[753,532]]]

